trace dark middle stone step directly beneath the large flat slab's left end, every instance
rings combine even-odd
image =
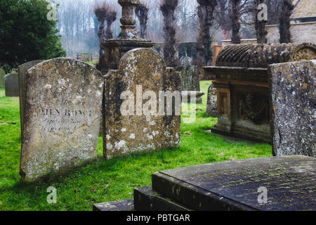
[[[190,211],[187,207],[152,191],[151,186],[134,189],[134,207],[138,211]]]

